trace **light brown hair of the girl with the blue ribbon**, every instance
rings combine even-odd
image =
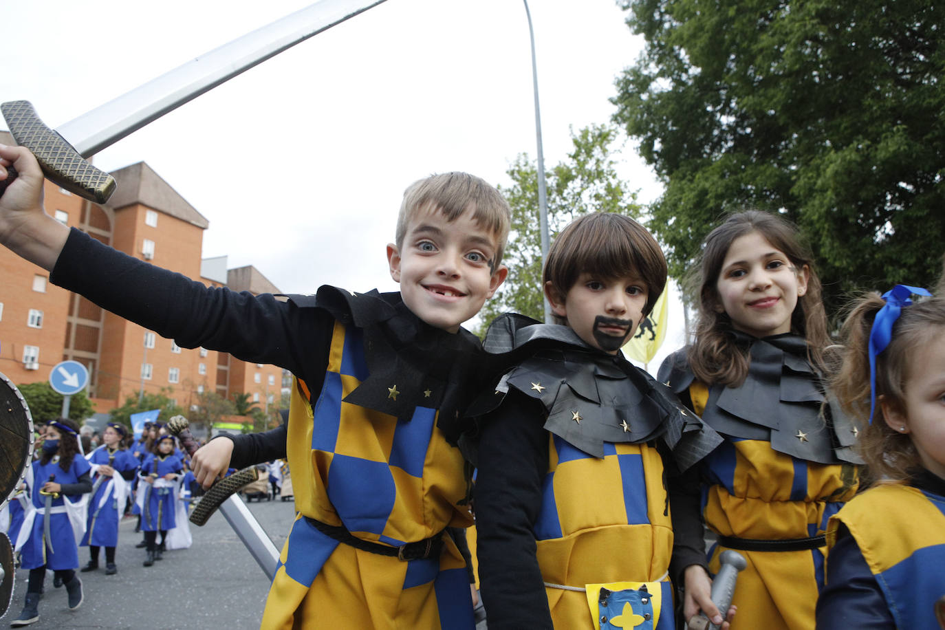
[[[885,306],[877,293],[859,298],[843,324],[843,365],[833,376],[832,387],[844,409],[860,425],[857,449],[867,461],[870,476],[907,480],[919,468],[919,453],[907,434],[885,423],[880,397],[892,409],[905,413],[905,383],[915,366],[915,350],[945,329],[945,299],[931,298],[903,306],[892,327],[892,338],[876,357],[876,411],[869,422],[869,333],[873,319]]]

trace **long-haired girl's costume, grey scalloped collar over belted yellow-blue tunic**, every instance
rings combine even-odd
[[[718,536],[710,570],[726,549],[747,559],[732,630],[814,630],[827,521],[858,485],[856,432],[828,403],[802,337],[734,334],[749,346],[741,385],[696,381],[686,350],[668,357],[659,375],[726,438],[702,463],[703,517]]]

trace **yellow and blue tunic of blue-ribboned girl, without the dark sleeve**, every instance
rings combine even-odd
[[[945,497],[909,485],[877,485],[830,519],[856,540],[902,630],[938,630],[934,605],[945,594]],[[830,560],[828,560],[830,561]]]

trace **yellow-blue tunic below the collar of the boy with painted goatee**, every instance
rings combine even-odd
[[[546,587],[661,582],[658,624],[649,620],[648,626],[637,627],[672,629],[667,571],[673,529],[662,456],[645,443],[605,442],[604,458],[598,459],[558,435],[549,434],[549,440],[541,514],[534,527]],[[556,628],[593,627],[586,593],[559,587],[546,592]]]

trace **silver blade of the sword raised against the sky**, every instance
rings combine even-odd
[[[200,94],[384,1],[321,0],[188,61],[56,131],[89,158]]]

